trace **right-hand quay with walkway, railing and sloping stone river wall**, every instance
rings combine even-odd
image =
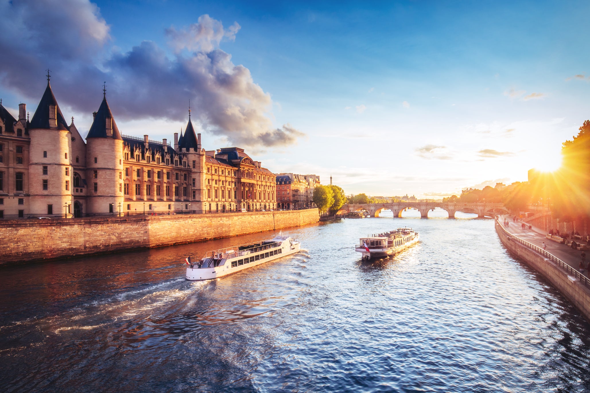
[[[504,219],[509,221],[508,227],[502,224]],[[525,224],[522,229],[521,222],[514,223],[512,217],[499,216],[495,226],[501,243],[548,280],[590,321],[590,278],[588,269],[579,270],[582,252],[553,242],[546,238],[544,230],[534,226],[529,229],[529,224]]]

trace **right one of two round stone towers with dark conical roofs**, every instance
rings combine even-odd
[[[122,211],[123,138],[106,94],[86,137],[86,183],[86,213],[118,214]]]

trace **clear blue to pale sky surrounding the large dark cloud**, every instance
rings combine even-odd
[[[532,167],[555,166],[560,143],[590,118],[586,2],[96,5],[108,38],[86,62],[132,51],[142,41],[172,59],[166,29],[181,31],[205,14],[225,31],[237,22],[234,37],[218,48],[270,96],[261,107],[273,127],[289,124],[305,134],[252,143],[248,151],[276,173],[316,173],[323,183],[332,174],[349,194],[440,197],[484,181],[526,180]],[[34,89],[24,92],[0,77],[5,106],[22,100],[32,113],[42,93],[39,78],[35,97]],[[86,79],[97,91],[84,94],[100,94],[102,80]],[[116,102],[125,78],[112,79],[109,100]],[[53,85],[64,115],[74,115],[84,134],[91,111],[76,107],[71,88]],[[152,98],[158,105],[157,94]],[[113,104],[112,110],[124,134],[171,139],[186,124],[132,109],[117,117]],[[199,127],[208,149],[238,140],[223,126],[210,127],[207,115]]]

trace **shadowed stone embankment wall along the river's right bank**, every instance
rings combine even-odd
[[[497,220],[496,233],[507,250],[540,273],[590,322],[590,282],[587,278],[539,247],[527,246],[527,242],[519,241],[507,233]]]

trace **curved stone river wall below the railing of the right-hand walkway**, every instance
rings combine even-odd
[[[509,239],[497,221],[496,232],[506,249],[540,273],[590,321],[590,289],[586,288],[575,277],[568,275],[562,267],[556,265],[551,260]]]

